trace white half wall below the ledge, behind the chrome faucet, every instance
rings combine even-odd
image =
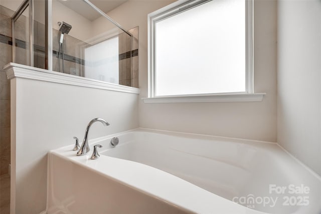
[[[137,94],[22,78],[11,87],[12,213],[46,209],[47,153],[73,144],[73,136],[81,143],[91,119],[110,126],[93,124],[89,139],[138,127]]]

